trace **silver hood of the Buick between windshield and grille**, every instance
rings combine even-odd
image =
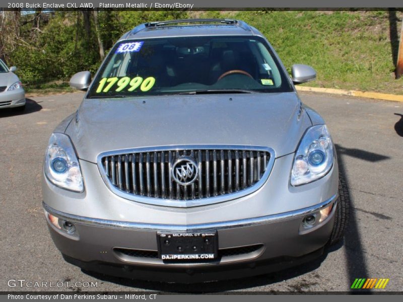
[[[295,152],[311,125],[296,93],[85,99],[66,129],[78,157],[136,147],[234,144]]]

